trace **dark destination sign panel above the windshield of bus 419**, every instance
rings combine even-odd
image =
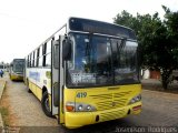
[[[69,29],[73,31],[101,33],[136,40],[135,32],[130,28],[97,20],[71,17],[69,19]]]

